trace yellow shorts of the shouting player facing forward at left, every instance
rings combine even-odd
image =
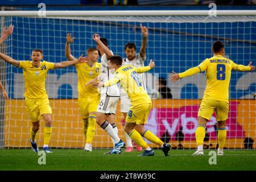
[[[32,122],[39,121],[40,115],[52,114],[48,98],[26,98],[25,106]]]

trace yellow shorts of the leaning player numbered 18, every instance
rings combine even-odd
[[[144,103],[140,105],[131,105],[130,110],[126,115],[127,123],[146,124],[147,117],[152,108],[152,103]]]

